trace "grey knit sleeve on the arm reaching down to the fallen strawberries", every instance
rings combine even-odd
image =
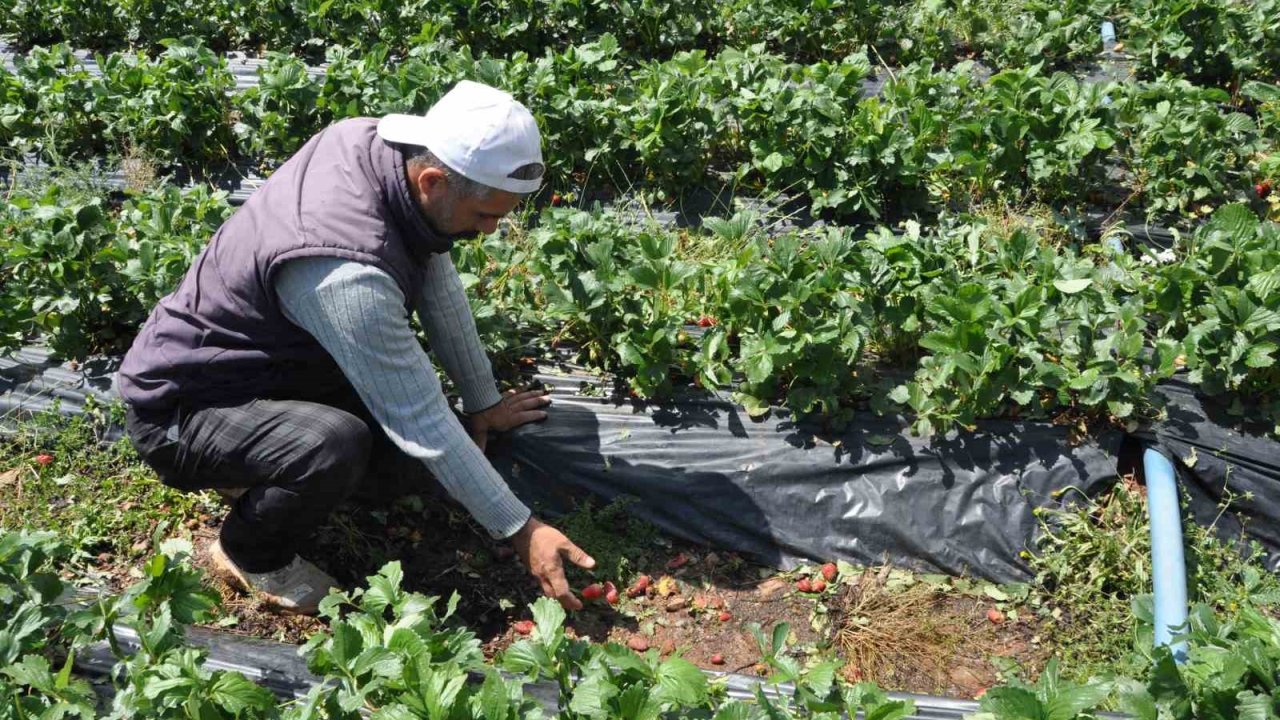
[[[339,259],[289,260],[275,293],[285,316],[333,356],[387,437],[426,464],[489,534],[507,538],[525,525],[529,509],[449,409],[390,275]]]

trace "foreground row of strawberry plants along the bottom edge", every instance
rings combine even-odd
[[[643,653],[571,634],[548,598],[513,623],[516,642],[493,660],[458,626],[458,596],[442,603],[404,589],[399,562],[321,603],[326,626],[300,650],[321,680],[282,703],[238,670],[210,669],[187,626],[219,614],[218,594],[192,568],[192,546],[168,539],[122,593],[83,607],[59,602],[73,548],[52,533],[0,533],[0,694],[12,717],[202,717],[375,720],[562,720],[703,717],[826,720],[915,717],[913,700],[874,683],[854,684],[828,655],[805,657],[790,628],[750,625],[763,675],[731,693],[732,680],[704,674],[678,652]],[[668,578],[669,579],[669,578]],[[841,578],[842,582],[847,582]],[[851,589],[851,588],[849,588]],[[998,591],[997,591],[998,592]],[[1135,603],[1140,607],[1140,603]],[[1036,683],[1009,678],[986,689],[974,717],[1088,720],[1121,710],[1138,717],[1263,716],[1275,703],[1280,624],[1245,601],[1216,614],[1197,605],[1185,630],[1188,659],[1149,643],[1149,607],[1135,628],[1132,671],[1073,682],[1050,661]],[[127,643],[120,638],[136,638]],[[637,635],[639,637],[639,635]],[[1142,638],[1146,638],[1144,643]],[[77,656],[105,647],[114,661],[100,697],[76,669]],[[506,673],[502,673],[506,671]],[[739,680],[742,678],[739,676]],[[538,682],[544,700],[525,683]],[[1261,710],[1260,710],[1261,708]],[[923,710],[923,708],[922,708]],[[1251,712],[1256,711],[1256,712]],[[923,714],[922,714],[923,715]]]

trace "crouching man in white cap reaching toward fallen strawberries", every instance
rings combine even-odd
[[[490,430],[544,419],[550,398],[498,392],[448,254],[494,232],[543,169],[529,110],[462,82],[425,117],[324,129],[218,229],[118,379],[129,438],[165,484],[243,491],[210,547],[216,573],[280,611],[315,612],[335,583],[300,552],[343,498],[376,495],[374,470],[392,460],[509,539],[543,592],[581,606],[562,561],[594,560],[532,518],[483,452]]]

